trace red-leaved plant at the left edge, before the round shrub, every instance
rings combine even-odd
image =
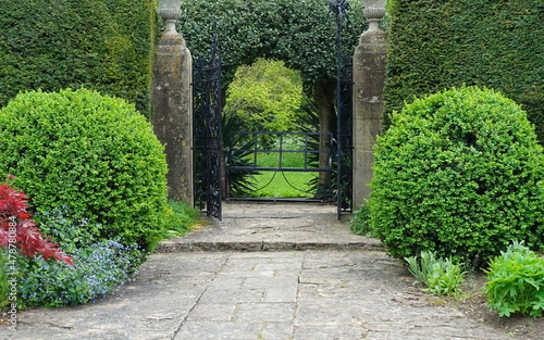
[[[13,179],[8,175],[8,180]],[[37,225],[32,222],[26,212],[26,196],[13,189],[9,184],[0,185],[0,247],[17,248],[23,256],[33,257],[37,253],[45,260],[53,257],[58,261],[73,264],[74,257],[67,256],[51,243],[51,237],[45,237]]]

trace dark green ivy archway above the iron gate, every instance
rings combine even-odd
[[[217,34],[222,53],[223,90],[240,65],[250,65],[258,58],[281,60],[287,67],[300,71],[305,92],[313,98],[318,108],[320,133],[331,133],[337,27],[330,2],[183,0],[177,28],[196,58],[209,54]],[[342,33],[344,55],[354,53],[367,27],[363,0],[351,0],[349,4],[349,22]],[[323,139],[320,149],[327,148],[329,143]],[[327,180],[320,178],[322,184]]]

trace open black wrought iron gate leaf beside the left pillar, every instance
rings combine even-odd
[[[217,39],[215,39],[217,41]],[[208,60],[193,67],[195,206],[222,218],[221,54],[217,42]]]

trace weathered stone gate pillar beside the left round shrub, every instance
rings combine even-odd
[[[193,60],[175,29],[182,0],[160,0],[166,27],[157,46],[153,72],[153,129],[164,144],[169,199],[194,204]]]

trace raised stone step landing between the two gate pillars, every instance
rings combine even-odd
[[[157,252],[381,250],[376,239],[355,235],[338,221],[336,206],[316,203],[224,203],[223,219],[183,238],[161,242]]]

